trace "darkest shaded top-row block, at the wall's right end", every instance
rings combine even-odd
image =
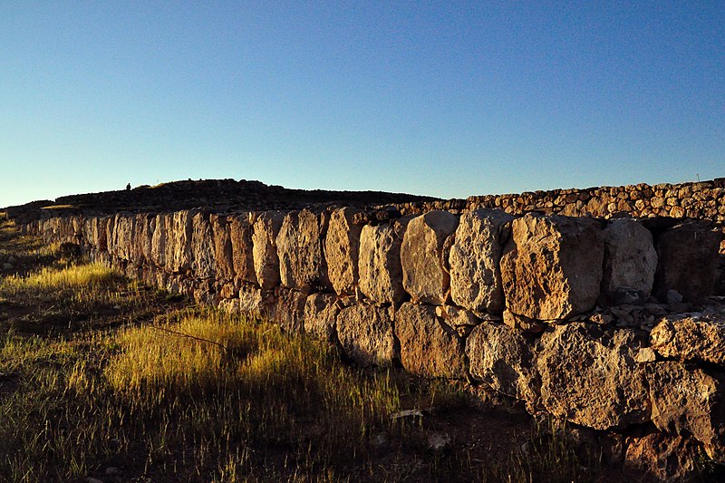
[[[721,237],[701,222],[682,223],[662,233],[657,240],[660,261],[654,294],[664,300],[668,290],[676,290],[687,302],[716,295]]]

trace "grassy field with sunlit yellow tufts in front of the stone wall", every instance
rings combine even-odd
[[[357,369],[0,223],[0,480],[609,480],[511,404]]]

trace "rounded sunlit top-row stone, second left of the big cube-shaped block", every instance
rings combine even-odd
[[[458,227],[458,218],[448,211],[429,211],[414,217],[401,245],[402,286],[413,302],[446,303],[450,275],[446,239]]]

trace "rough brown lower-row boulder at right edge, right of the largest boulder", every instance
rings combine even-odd
[[[681,362],[647,364],[652,422],[662,431],[691,434],[710,458],[725,461],[723,381]]]

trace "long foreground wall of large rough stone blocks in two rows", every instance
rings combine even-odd
[[[722,195],[708,189],[709,209]],[[674,205],[662,191],[663,206],[695,209],[677,193]],[[594,206],[579,196],[567,206]],[[199,303],[339,344],[362,365],[483,385],[595,430],[692,437],[725,462],[713,217],[427,208],[117,213],[25,229]]]

